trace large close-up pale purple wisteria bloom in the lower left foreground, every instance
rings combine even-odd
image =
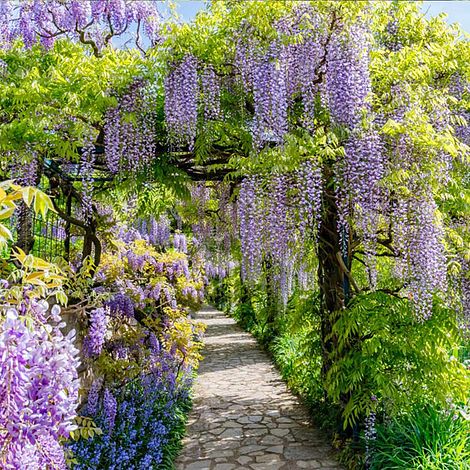
[[[28,300],[0,323],[0,466],[66,469],[59,439],[78,406],[75,332],[64,336],[60,309]],[[2,315],[2,316],[3,316]]]

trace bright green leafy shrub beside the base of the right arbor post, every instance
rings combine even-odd
[[[435,302],[419,321],[407,299],[383,292],[357,296],[341,313],[332,335],[337,348],[326,381],[331,399],[344,406],[344,425],[361,422],[378,398],[388,416],[448,399],[466,400],[468,373],[457,359],[455,313]]]

